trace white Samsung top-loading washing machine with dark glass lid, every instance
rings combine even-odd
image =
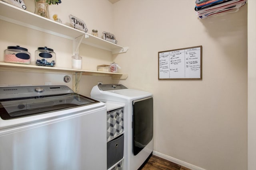
[[[0,87],[0,170],[106,170],[106,125],[67,86]]]

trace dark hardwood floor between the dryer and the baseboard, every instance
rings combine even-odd
[[[140,170],[190,170],[158,156],[152,155]]]

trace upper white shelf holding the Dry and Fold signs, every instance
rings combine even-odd
[[[128,50],[128,47],[122,47],[111,43],[89,33],[74,29],[73,27],[44,18],[16,6],[12,6],[3,1],[0,1],[0,20],[72,40],[85,36],[86,38],[83,39],[82,43],[112,51],[113,54],[124,53]]]

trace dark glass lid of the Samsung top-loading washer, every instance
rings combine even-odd
[[[0,117],[8,120],[95,103],[99,102],[76,93],[5,99],[0,100]]]

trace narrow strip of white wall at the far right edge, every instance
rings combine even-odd
[[[256,167],[256,1],[248,1],[248,170]]]

